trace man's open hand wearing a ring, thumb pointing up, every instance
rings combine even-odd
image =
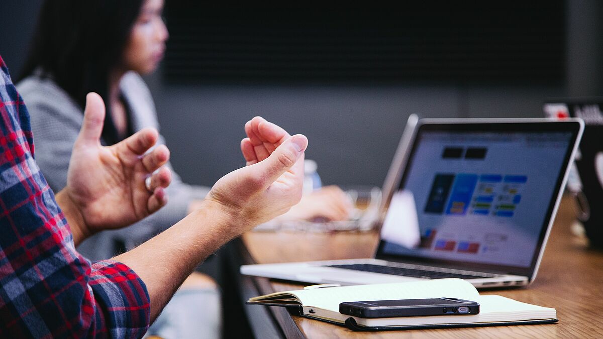
[[[171,173],[162,166],[169,159],[168,148],[159,145],[145,154],[157,142],[157,131],[145,128],[118,144],[103,147],[99,139],[104,116],[101,97],[88,93],[84,122],[69,162],[67,186],[57,194],[76,243],[99,230],[134,223],[167,202],[164,188],[171,181]],[[147,177],[151,179],[145,185]]]

